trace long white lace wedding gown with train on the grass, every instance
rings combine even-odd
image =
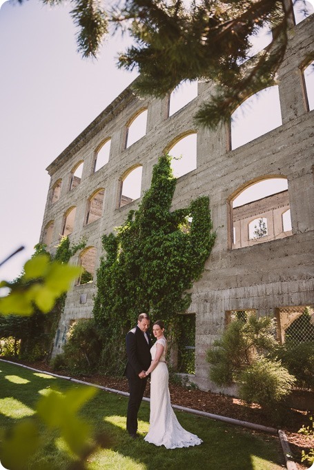
[[[157,367],[150,374],[150,427],[144,440],[157,446],[164,445],[166,449],[199,445],[202,439],[181,427],[171,407],[168,367],[166,362],[161,362],[166,360],[166,340],[160,338],[151,347],[152,359],[155,358],[157,343],[164,346],[164,351]]]

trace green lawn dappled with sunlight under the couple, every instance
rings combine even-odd
[[[77,385],[0,362],[0,428],[8,429],[21,418],[32,416],[37,400],[50,388],[62,392],[70,387]],[[99,391],[82,409],[81,416],[92,423],[95,432],[110,436],[110,448],[92,454],[88,458],[88,469],[279,470],[284,464],[277,437],[182,411],[176,412],[179,422],[202,438],[202,445],[167,450],[150,445],[142,438],[132,440],[126,433],[127,405],[127,398]],[[148,431],[148,419],[149,404],[143,402],[139,411],[139,433],[143,437]],[[70,459],[57,433],[43,427],[41,438],[43,445],[25,470],[41,468],[43,460],[50,468],[66,469]]]

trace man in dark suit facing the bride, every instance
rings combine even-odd
[[[137,327],[131,329],[126,335],[126,355],[128,362],[124,375],[128,378],[130,398],[128,400],[128,414],[126,416],[126,429],[131,438],[137,437],[137,413],[144,396],[147,377],[145,371],[150,367],[151,340],[147,333],[150,325],[148,314],[140,314],[137,318]]]

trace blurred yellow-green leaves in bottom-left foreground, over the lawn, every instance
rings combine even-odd
[[[75,458],[77,468],[84,469],[85,459],[99,446],[99,442],[92,436],[92,427],[77,414],[97,391],[92,387],[73,388],[65,394],[50,390],[50,393],[37,403],[35,417],[17,423],[8,433],[0,429],[0,461],[3,467],[10,470],[25,470],[30,458],[41,446],[40,432],[43,422],[52,433],[57,430],[59,436],[66,442],[65,449],[70,458]],[[40,469],[48,468],[51,469],[48,462],[44,460],[40,462]]]

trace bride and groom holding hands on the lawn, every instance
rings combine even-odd
[[[164,445],[166,449],[199,445],[202,440],[181,427],[171,407],[164,323],[158,320],[153,325],[154,345],[148,334],[149,326],[149,316],[140,314],[137,326],[126,335],[128,362],[124,374],[130,393],[126,429],[132,438],[137,437],[137,413],[150,375],[150,427],[144,440],[157,446]]]

